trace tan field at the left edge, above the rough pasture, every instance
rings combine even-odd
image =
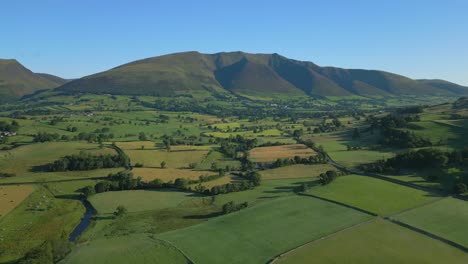
[[[19,205],[33,190],[31,185],[0,186],[0,218]]]

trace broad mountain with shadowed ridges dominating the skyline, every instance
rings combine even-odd
[[[462,95],[468,88],[375,71],[320,67],[278,54],[184,52],[143,59],[71,81],[62,91],[203,97]]]

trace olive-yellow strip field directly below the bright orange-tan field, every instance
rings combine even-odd
[[[262,179],[265,179],[265,180],[294,179],[294,178],[318,177],[320,173],[324,173],[328,170],[336,170],[336,169],[330,164],[315,164],[315,165],[296,164],[296,165],[291,165],[291,166],[275,168],[271,170],[260,171],[260,174],[262,175]]]

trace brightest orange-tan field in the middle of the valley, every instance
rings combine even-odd
[[[254,162],[273,162],[277,159],[310,157],[317,153],[302,144],[259,147],[250,151],[250,158]]]

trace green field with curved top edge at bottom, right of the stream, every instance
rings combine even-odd
[[[190,263],[167,243],[148,235],[102,238],[75,248],[62,264],[87,263]]]

